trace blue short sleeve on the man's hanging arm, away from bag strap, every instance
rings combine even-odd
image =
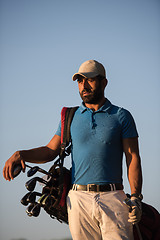
[[[120,109],[119,121],[122,126],[122,138],[138,137],[134,118],[128,110],[123,108]]]

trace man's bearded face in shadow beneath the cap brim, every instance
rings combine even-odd
[[[79,93],[84,103],[97,104],[104,97],[102,81],[96,77],[84,78],[79,76],[77,80]]]

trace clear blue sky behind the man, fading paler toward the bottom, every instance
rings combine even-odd
[[[43,210],[29,218],[26,174],[6,182],[2,169],[16,150],[47,144],[61,108],[81,103],[71,78],[89,59],[106,67],[106,97],[135,118],[144,201],[160,211],[159,0],[0,0],[0,239],[70,236]],[[130,192],[125,164],[124,184]]]

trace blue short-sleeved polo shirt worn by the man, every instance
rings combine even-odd
[[[72,183],[122,183],[122,139],[133,137],[138,133],[129,111],[107,99],[95,112],[82,103],[71,123]]]

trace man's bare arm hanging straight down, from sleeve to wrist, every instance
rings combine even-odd
[[[123,139],[123,150],[126,156],[131,194],[139,195],[142,190],[142,169],[139,155],[138,138]]]

